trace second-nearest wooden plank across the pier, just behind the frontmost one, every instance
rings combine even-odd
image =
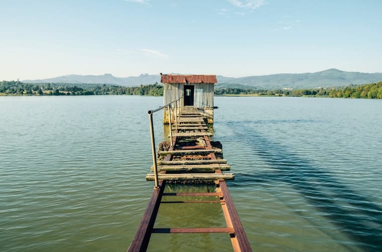
[[[158,171],[177,171],[177,172],[214,172],[217,169],[229,171],[228,164],[199,164],[199,165],[158,165]],[[153,167],[151,166],[151,171]]]

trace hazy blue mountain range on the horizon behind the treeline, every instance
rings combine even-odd
[[[328,69],[316,73],[272,74],[240,78],[217,76],[216,88],[252,88],[252,89],[309,89],[317,87],[342,87],[362,85],[382,81],[382,73],[345,72]],[[141,74],[137,77],[115,77],[104,75],[65,75],[42,80],[24,80],[25,83],[67,83],[67,84],[112,84],[121,86],[139,86],[160,83],[160,75]]]

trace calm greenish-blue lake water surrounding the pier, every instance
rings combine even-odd
[[[153,187],[147,110],[161,104],[0,97],[0,250],[126,251]],[[214,139],[236,175],[228,187],[254,250],[382,250],[382,100],[216,97],[215,105]],[[178,189],[189,190],[168,188]],[[167,204],[158,226],[201,226],[190,211],[205,226],[224,221],[206,216],[221,212],[216,204]],[[150,251],[231,249],[225,234],[152,241]]]

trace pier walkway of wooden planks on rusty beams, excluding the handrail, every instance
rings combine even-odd
[[[154,173],[147,174],[146,180],[154,180],[156,187],[153,189],[128,251],[146,251],[153,233],[227,233],[227,239],[231,240],[233,251],[252,251],[225,182],[234,179],[235,176],[233,173],[226,172],[230,170],[230,166],[227,160],[222,158],[220,143],[210,141],[209,137],[213,134],[208,132],[206,120],[197,108],[181,105],[177,110],[175,105],[175,111],[174,120],[172,120],[171,112],[168,111],[172,141],[160,143],[157,154],[153,151],[154,164],[151,169]],[[171,121],[175,121],[173,131]],[[212,183],[216,186],[216,190],[215,192],[166,193],[167,183]],[[154,228],[160,204],[169,202],[163,202],[163,196],[196,198],[196,200],[173,203],[219,203],[226,223],[224,227],[190,228],[178,223],[176,227]],[[210,200],[211,196],[215,199]],[[208,197],[209,200],[200,200],[201,197]],[[215,214],[211,212],[211,215]],[[197,219],[198,216],[195,218]]]

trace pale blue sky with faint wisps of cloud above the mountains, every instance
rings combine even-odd
[[[0,0],[0,80],[382,72],[379,0]]]

